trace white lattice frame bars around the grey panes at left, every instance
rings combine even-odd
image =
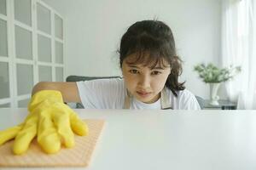
[[[49,7],[48,4],[44,3],[42,0],[31,0],[31,11],[32,11],[32,26],[27,26],[18,20],[15,20],[15,0],[6,0],[6,10],[7,15],[0,14],[0,19],[7,22],[7,41],[8,41],[8,57],[0,56],[0,62],[8,63],[9,65],[9,98],[0,99],[0,105],[9,104],[10,107],[18,107],[18,103],[24,99],[30,99],[30,94],[18,95],[17,93],[17,75],[16,75],[16,64],[26,64],[33,66],[33,85],[38,83],[39,72],[38,68],[40,65],[50,66],[51,68],[51,78],[55,82],[55,69],[58,67],[62,68],[63,77],[66,76],[65,72],[65,20],[55,11],[54,8]],[[50,22],[51,22],[51,35],[38,31],[37,23],[37,4],[48,8],[50,11]],[[62,35],[63,39],[55,37],[55,14],[62,20]],[[15,26],[20,26],[28,31],[32,32],[32,60],[30,59],[18,59],[15,54]],[[51,40],[51,62],[38,61],[38,34],[44,37],[49,37]],[[55,41],[61,42],[63,46],[63,64],[55,63]],[[0,89],[1,90],[1,89]]]

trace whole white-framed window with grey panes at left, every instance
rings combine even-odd
[[[63,19],[40,0],[0,0],[0,107],[26,107],[40,81],[63,81]]]

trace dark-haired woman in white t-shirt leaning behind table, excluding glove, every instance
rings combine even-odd
[[[178,82],[182,71],[169,26],[158,20],[138,21],[121,39],[122,79],[85,82],[39,82],[40,90],[60,91],[65,102],[95,109],[200,110],[195,95]]]

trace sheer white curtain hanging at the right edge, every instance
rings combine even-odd
[[[241,73],[226,82],[237,109],[256,109],[256,2],[223,0],[222,65],[241,65]]]

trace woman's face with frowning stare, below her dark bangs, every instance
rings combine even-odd
[[[147,56],[146,56],[147,57]],[[160,98],[160,92],[165,87],[167,77],[171,73],[170,66],[161,67],[160,63],[151,65],[130,64],[135,54],[126,57],[122,64],[125,86],[129,93],[143,103],[154,103]],[[164,65],[169,65],[166,60]]]

